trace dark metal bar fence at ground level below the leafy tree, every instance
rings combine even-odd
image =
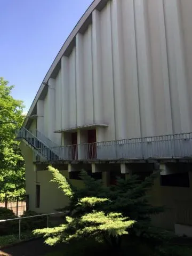
[[[2,206],[12,210],[16,216],[21,216],[25,211],[28,211],[29,195],[5,196]]]

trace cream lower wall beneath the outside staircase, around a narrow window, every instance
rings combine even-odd
[[[29,210],[49,213],[56,209],[65,207],[68,204],[68,198],[58,188],[57,183],[50,182],[52,175],[48,170],[38,171],[33,164],[33,150],[21,141],[20,148],[25,159],[26,175],[26,194],[29,195]],[[68,170],[60,170],[62,175],[69,178]],[[80,180],[71,180],[74,186],[83,186]],[[36,185],[40,185],[40,207],[36,207]]]

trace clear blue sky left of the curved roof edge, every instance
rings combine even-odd
[[[0,76],[29,109],[47,70],[92,0],[0,0]]]

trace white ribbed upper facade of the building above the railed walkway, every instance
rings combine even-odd
[[[92,124],[97,141],[190,132],[192,1],[95,2],[37,94],[37,130],[58,145]]]

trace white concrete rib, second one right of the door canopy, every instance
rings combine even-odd
[[[134,0],[135,36],[137,43],[139,99],[141,111],[141,136],[153,136],[154,111],[151,84],[150,44],[145,0]]]

